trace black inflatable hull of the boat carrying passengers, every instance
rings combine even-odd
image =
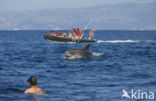
[[[97,42],[95,39],[78,39],[73,41],[72,38],[69,37],[57,37],[51,34],[45,34],[44,38],[55,42]]]

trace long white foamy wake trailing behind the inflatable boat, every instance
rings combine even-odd
[[[137,42],[156,42],[156,40],[97,40],[97,43],[137,43]]]

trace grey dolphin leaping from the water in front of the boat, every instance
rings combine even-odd
[[[89,52],[89,47],[91,44],[87,44],[82,49],[70,49],[64,53],[66,59],[81,59],[81,58],[91,58],[95,56],[93,53]]]

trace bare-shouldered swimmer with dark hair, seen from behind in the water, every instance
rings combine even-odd
[[[34,76],[31,76],[27,82],[29,82],[31,88],[27,89],[24,94],[45,94],[44,90],[36,86],[37,79]]]

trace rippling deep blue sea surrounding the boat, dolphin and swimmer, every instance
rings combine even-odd
[[[63,54],[88,43],[53,43],[46,33],[0,31],[0,101],[149,101],[122,98],[123,89],[156,100],[156,31],[97,30],[89,51],[104,55],[79,60]],[[32,75],[45,95],[23,94]]]

